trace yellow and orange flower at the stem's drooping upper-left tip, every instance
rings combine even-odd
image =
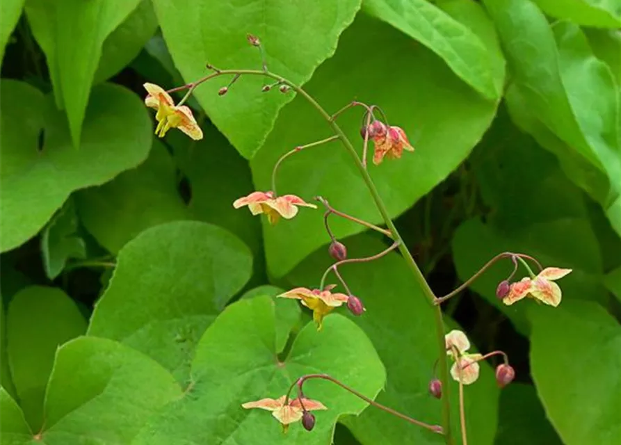
[[[155,134],[163,138],[171,128],[178,128],[194,140],[202,139],[202,130],[196,123],[192,110],[187,106],[175,106],[172,97],[161,86],[154,83],[145,83],[145,90],[149,95],[145,97],[145,105],[155,108],[157,113],[157,127]]]

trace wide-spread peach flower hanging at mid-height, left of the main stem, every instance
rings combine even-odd
[[[252,192],[250,195],[241,197],[233,203],[233,207],[236,209],[243,206],[248,206],[250,213],[253,215],[265,213],[272,225],[276,224],[281,216],[288,220],[296,216],[298,214],[298,207],[296,206],[317,208],[315,204],[309,204],[296,195],[274,197],[271,191]]]

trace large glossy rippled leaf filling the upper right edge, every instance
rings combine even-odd
[[[559,157],[621,234],[621,93],[611,69],[593,56],[578,26],[551,28],[532,1],[484,3],[513,68],[508,98],[510,108],[521,108],[517,122]]]

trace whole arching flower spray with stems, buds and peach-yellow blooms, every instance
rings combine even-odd
[[[506,353],[503,353],[500,350],[493,351],[485,355],[482,355],[480,353],[468,353],[467,351],[470,348],[470,342],[464,332],[460,330],[452,330],[451,332],[444,334],[444,321],[442,318],[442,311],[439,309],[439,305],[442,302],[449,300],[449,298],[457,295],[463,289],[467,288],[467,286],[469,286],[471,282],[474,282],[474,280],[476,280],[481,274],[485,273],[485,270],[492,266],[492,264],[494,264],[496,261],[509,258],[513,261],[514,269],[506,280],[499,282],[496,291],[497,298],[502,300],[505,305],[513,305],[515,302],[522,300],[526,296],[530,296],[531,298],[535,299],[540,303],[545,303],[546,305],[557,307],[560,304],[562,293],[560,291],[560,287],[554,281],[571,273],[572,270],[556,267],[542,268],[542,266],[536,259],[530,257],[527,254],[503,252],[488,261],[485,266],[478,270],[477,273],[475,273],[469,280],[467,280],[464,284],[459,286],[454,291],[451,291],[446,296],[435,296],[433,291],[430,289],[430,286],[426,282],[424,275],[421,273],[419,266],[417,266],[416,261],[414,261],[412,254],[407,248],[404,247],[403,239],[398,233],[394,223],[392,222],[392,219],[389,217],[385,204],[382,202],[382,198],[380,197],[376,186],[373,183],[371,177],[369,176],[369,172],[367,170],[367,158],[370,141],[373,141],[374,144],[374,165],[380,165],[385,158],[401,159],[404,150],[414,152],[414,147],[410,145],[408,137],[405,135],[403,129],[387,124],[387,118],[379,106],[369,106],[367,104],[357,101],[347,104],[336,113],[330,115],[302,87],[296,85],[296,83],[293,83],[288,79],[284,79],[284,77],[278,74],[269,71],[261,41],[259,40],[259,38],[257,38],[257,36],[252,34],[248,34],[247,38],[248,43],[252,47],[257,47],[259,49],[262,59],[261,70],[220,70],[219,68],[207,63],[207,69],[213,71],[213,74],[208,74],[207,76],[204,76],[197,81],[187,83],[186,85],[181,87],[172,88],[171,90],[163,90],[163,88],[156,86],[152,83],[145,83],[144,86],[148,92],[148,95],[145,98],[145,104],[147,106],[150,106],[151,108],[156,109],[156,135],[162,138],[166,135],[166,132],[169,129],[178,128],[180,131],[186,133],[186,135],[190,136],[193,139],[201,139],[202,131],[198,126],[195,118],[193,117],[190,108],[184,106],[184,103],[189,99],[189,97],[191,97],[191,94],[194,92],[194,90],[202,85],[202,83],[210,81],[211,79],[216,79],[219,76],[226,75],[232,76],[232,80],[229,81],[227,86],[223,86],[218,90],[218,95],[220,96],[226,95],[229,92],[229,89],[232,88],[234,83],[236,83],[236,81],[238,81],[241,76],[263,76],[266,79],[271,79],[272,83],[264,85],[261,88],[262,92],[269,92],[273,88],[278,88],[280,92],[287,94],[289,90],[293,90],[299,95],[303,96],[307,100],[307,102],[309,102],[309,104],[322,115],[325,121],[330,125],[332,131],[334,131],[334,135],[323,140],[308,143],[306,145],[298,145],[297,147],[291,149],[291,151],[282,155],[280,159],[276,161],[272,170],[271,190],[255,191],[250,193],[250,195],[240,197],[233,202],[233,207],[235,209],[239,209],[241,207],[248,207],[248,209],[254,216],[264,214],[271,225],[275,225],[276,223],[278,223],[281,217],[285,219],[294,218],[298,214],[298,207],[309,207],[312,209],[316,209],[317,206],[315,204],[309,204],[308,202],[305,202],[303,198],[296,195],[277,194],[276,181],[278,168],[280,168],[281,163],[285,159],[293,154],[301,152],[303,149],[317,147],[325,143],[330,143],[334,140],[339,140],[342,145],[344,145],[344,147],[352,156],[353,161],[360,174],[362,175],[366,186],[369,188],[369,193],[371,194],[371,197],[373,198],[373,202],[376,204],[376,207],[378,207],[378,211],[380,211],[380,213],[382,214],[382,218],[384,218],[384,223],[387,229],[383,229],[382,227],[373,225],[372,223],[361,220],[360,218],[350,216],[343,211],[334,209],[332,206],[330,206],[328,200],[325,200],[325,198],[321,196],[317,196],[316,200],[318,200],[318,202],[321,202],[321,204],[323,204],[326,209],[323,219],[325,229],[328,232],[331,240],[328,252],[330,253],[330,256],[337,260],[337,262],[332,264],[332,266],[325,270],[325,273],[323,273],[323,276],[321,277],[321,283],[319,284],[318,288],[307,289],[305,287],[297,287],[295,289],[291,289],[290,291],[281,293],[276,297],[300,300],[303,306],[312,310],[313,319],[317,325],[318,331],[321,330],[323,326],[323,318],[330,312],[332,312],[335,308],[341,307],[342,305],[346,305],[353,315],[361,316],[365,312],[364,304],[362,303],[362,300],[360,300],[360,298],[353,295],[348,284],[339,273],[339,266],[343,264],[373,261],[376,259],[380,259],[392,250],[399,249],[401,254],[403,255],[404,261],[406,261],[410,268],[410,272],[419,282],[419,285],[426,290],[426,294],[428,296],[430,304],[435,307],[435,324],[439,345],[439,354],[437,362],[434,364],[433,367],[434,372],[437,371],[439,373],[439,379],[434,378],[433,380],[430,380],[428,385],[428,391],[431,396],[439,398],[443,401],[443,424],[442,426],[430,425],[428,423],[424,423],[423,421],[412,419],[406,414],[393,410],[391,407],[387,407],[385,405],[377,403],[376,401],[373,401],[372,398],[364,396],[364,394],[361,394],[355,389],[349,387],[344,382],[341,382],[325,373],[309,373],[301,375],[296,378],[291,385],[289,385],[289,388],[287,389],[284,396],[280,396],[278,398],[261,398],[257,401],[243,403],[242,407],[244,407],[245,409],[259,408],[261,410],[267,410],[272,412],[275,419],[277,419],[277,421],[279,421],[282,425],[284,432],[287,432],[291,423],[296,423],[298,421],[300,421],[303,428],[311,431],[314,429],[316,423],[316,417],[314,416],[314,414],[312,414],[312,411],[327,410],[328,408],[323,405],[321,401],[307,398],[303,390],[303,385],[308,380],[327,380],[328,382],[337,385],[341,389],[350,392],[350,394],[361,398],[363,401],[371,404],[373,407],[376,407],[380,410],[387,412],[388,414],[392,414],[400,419],[413,423],[416,426],[420,426],[422,428],[430,430],[431,432],[443,435],[445,442],[447,444],[452,444],[455,443],[455,437],[453,437],[453,430],[451,428],[451,409],[449,405],[450,402],[448,394],[446,394],[447,391],[443,391],[443,387],[448,387],[449,381],[449,368],[447,364],[448,361],[446,359],[446,357],[448,356],[451,357],[453,361],[453,365],[450,369],[451,378],[453,378],[453,380],[457,381],[459,384],[461,441],[462,444],[467,444],[468,439],[467,423],[465,420],[464,385],[471,385],[478,379],[478,362],[493,357],[494,355],[501,355],[503,357],[503,363],[499,364],[496,368],[496,380],[497,384],[501,388],[506,387],[506,385],[510,384],[510,382],[514,380],[515,370],[512,366],[510,366],[508,361],[508,355],[506,355]],[[181,99],[179,104],[175,104],[174,100],[170,96],[170,93],[179,90],[187,90],[187,92]],[[344,113],[348,109],[354,108],[356,106],[360,106],[364,109],[364,115],[362,116],[363,124],[360,131],[360,135],[362,136],[362,140],[364,141],[362,146],[362,156],[357,153],[355,147],[353,146],[353,143],[350,142],[344,131],[337,124],[337,118],[339,117],[339,115],[341,115],[341,113]],[[382,120],[378,120],[378,118],[376,118],[376,113],[380,114]],[[380,232],[382,235],[391,238],[393,243],[389,246],[389,248],[371,257],[348,258],[346,246],[340,241],[337,241],[337,239],[332,234],[332,231],[330,230],[328,218],[332,214],[353,221],[354,223],[363,225],[364,227],[367,227],[369,229],[373,229],[376,232]],[[533,270],[531,269],[529,264],[526,263],[525,259],[533,261],[538,266],[539,273],[537,275],[533,273]],[[511,282],[515,273],[518,270],[519,264],[521,264],[526,269],[526,271],[529,273],[529,276],[524,277],[522,280],[519,280],[517,282]],[[346,293],[332,292],[332,290],[336,288],[337,285],[326,284],[329,273],[333,273],[335,277],[337,277],[339,283],[344,288]],[[297,390],[296,395],[292,394],[292,391],[294,389]]]

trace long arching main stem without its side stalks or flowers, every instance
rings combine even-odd
[[[408,250],[407,246],[403,242],[403,238],[401,238],[401,234],[399,234],[394,223],[392,222],[392,219],[390,218],[390,215],[388,213],[388,209],[386,208],[384,202],[382,201],[382,198],[380,197],[380,194],[378,193],[378,189],[373,183],[373,179],[371,179],[369,172],[366,170],[366,168],[364,168],[364,165],[362,165],[362,162],[360,161],[360,158],[358,157],[354,146],[352,145],[352,143],[350,142],[350,140],[348,139],[344,131],[341,129],[341,127],[339,127],[339,124],[337,124],[337,122],[334,122],[334,120],[332,119],[332,116],[329,115],[311,95],[309,95],[300,86],[297,86],[295,83],[292,83],[291,81],[284,79],[282,76],[278,76],[277,74],[274,74],[273,72],[261,71],[261,70],[218,70],[214,72],[213,74],[204,76],[202,79],[199,79],[198,81],[195,81],[193,83],[188,83],[188,85],[185,86],[185,88],[190,88],[190,90],[194,90],[197,86],[199,86],[204,81],[208,81],[209,79],[213,79],[214,77],[222,76],[225,74],[233,74],[233,75],[250,74],[250,75],[258,75],[258,76],[266,76],[266,77],[270,77],[271,79],[275,79],[277,81],[280,81],[281,83],[288,85],[289,87],[291,87],[292,90],[294,90],[299,95],[304,97],[307,100],[307,102],[309,102],[309,104],[311,104],[311,106],[313,106],[316,109],[316,111],[318,111],[318,113],[323,116],[325,121],[328,122],[330,127],[332,127],[332,130],[334,131],[334,133],[339,137],[339,139],[341,140],[341,143],[345,146],[349,154],[352,156],[354,163],[356,167],[358,168],[358,170],[360,171],[360,175],[362,176],[362,179],[364,180],[364,183],[366,184],[366,187],[369,188],[369,192],[371,192],[371,197],[373,197],[373,201],[375,202],[376,207],[378,208],[378,210],[380,211],[380,214],[382,215],[382,218],[384,219],[384,223],[388,227],[389,232],[392,234],[392,238],[394,239],[394,241],[398,243],[398,249],[399,249],[399,252],[401,252],[401,255],[403,256],[403,259],[405,259],[405,264],[407,264],[408,268],[410,268],[412,275],[414,275],[414,279],[417,281],[421,289],[423,289],[423,292],[427,300],[429,301],[430,305],[432,305],[433,307],[436,341],[437,341],[437,347],[439,351],[439,354],[438,354],[439,356],[438,358],[439,377],[440,377],[440,380],[442,381],[442,387],[444,389],[444,394],[442,394],[442,427],[444,428],[444,437],[446,437],[446,444],[447,445],[455,444],[455,439],[453,438],[453,432],[451,431],[451,410],[450,410],[450,403],[449,403],[449,366],[446,362],[446,343],[444,341],[444,321],[442,321],[442,309],[440,309],[439,306],[433,304],[433,302],[435,301],[435,295],[433,291],[431,290],[431,288],[429,287],[429,284],[425,280],[425,277],[423,273],[421,272],[421,270],[419,269],[419,266],[416,264],[416,261],[414,261],[412,254],[410,254],[410,251]],[[174,88],[173,90],[178,90],[182,88]]]

